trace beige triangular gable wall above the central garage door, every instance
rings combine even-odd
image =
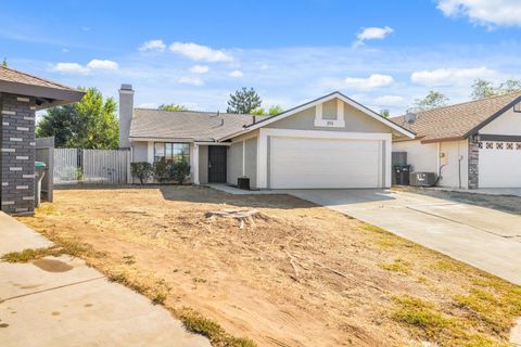
[[[367,114],[344,103],[345,127],[316,127],[316,106],[301,111],[288,118],[274,121],[266,128],[295,129],[295,130],[327,130],[327,131],[356,131],[356,132],[380,132],[389,133],[392,129],[381,121],[371,118]],[[322,104],[322,118],[334,119],[336,115],[336,99]]]

